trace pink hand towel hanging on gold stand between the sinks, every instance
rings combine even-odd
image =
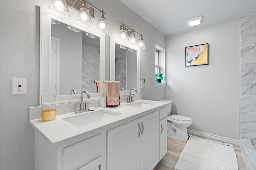
[[[120,94],[120,82],[119,81],[106,81],[105,86],[105,96],[106,105],[117,105],[119,104],[119,94]]]

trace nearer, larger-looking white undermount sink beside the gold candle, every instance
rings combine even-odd
[[[89,125],[91,123],[102,121],[104,119],[108,119],[110,117],[114,117],[120,114],[121,113],[117,113],[109,110],[98,110],[90,113],[84,113],[81,115],[66,117],[66,118],[63,118],[63,120],[75,126],[84,126],[84,125]]]

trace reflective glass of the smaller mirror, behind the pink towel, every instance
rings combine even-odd
[[[137,51],[115,43],[115,79],[123,82],[120,90],[137,87]]]

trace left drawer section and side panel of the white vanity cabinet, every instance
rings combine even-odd
[[[106,150],[106,135],[102,133],[57,148],[35,133],[35,169],[106,170],[102,158],[104,148]]]

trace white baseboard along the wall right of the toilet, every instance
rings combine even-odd
[[[216,141],[226,142],[226,143],[230,143],[230,144],[236,144],[236,145],[241,144],[240,140],[237,140],[237,139],[221,137],[221,136],[212,135],[209,133],[198,132],[198,131],[193,131],[193,130],[189,130],[189,129],[188,129],[188,134],[192,134],[192,135],[196,135],[196,136],[200,136],[203,138],[212,139],[212,140],[216,140]]]

